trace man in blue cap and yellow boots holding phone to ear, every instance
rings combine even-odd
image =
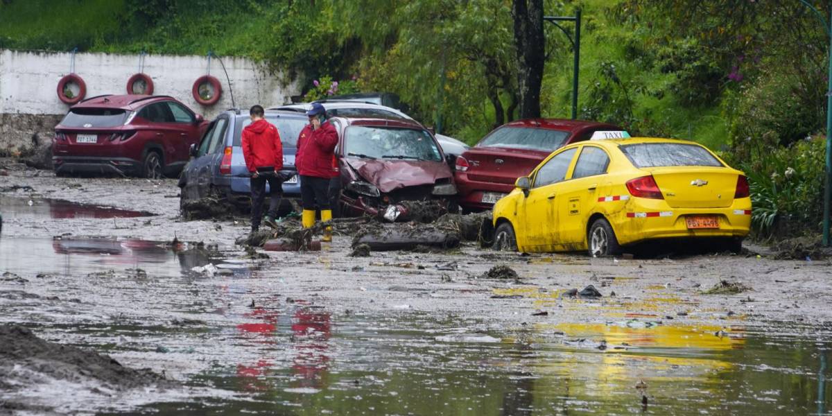
[[[326,110],[319,102],[312,103],[306,111],[310,124],[300,131],[295,166],[300,174],[300,199],[304,206],[301,217],[305,228],[314,225],[315,207],[320,210],[320,220],[332,220],[329,208],[329,181],[338,176],[338,167],[333,166],[338,131],[326,120]],[[323,241],[332,241],[332,227],[324,230]]]

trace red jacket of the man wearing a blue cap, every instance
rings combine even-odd
[[[335,160],[335,145],[338,144],[338,131],[329,121],[324,121],[318,130],[306,125],[298,136],[298,154],[295,166],[302,176],[334,178],[339,175]]]

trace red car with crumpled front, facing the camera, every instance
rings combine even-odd
[[[339,134],[341,212],[420,220],[456,210],[453,172],[436,138],[415,121],[333,117]]]

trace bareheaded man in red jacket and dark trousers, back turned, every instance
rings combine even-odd
[[[283,145],[277,127],[263,118],[262,106],[252,106],[251,124],[243,129],[243,157],[251,174],[251,231],[260,229],[265,201],[265,184],[269,183],[271,201],[265,224],[276,227],[275,216],[283,196]]]

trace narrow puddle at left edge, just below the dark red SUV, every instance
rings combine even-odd
[[[145,211],[122,210],[112,206],[94,206],[63,200],[2,196],[0,198],[0,215],[2,215],[3,220],[32,220],[37,218],[135,218],[154,214]]]

